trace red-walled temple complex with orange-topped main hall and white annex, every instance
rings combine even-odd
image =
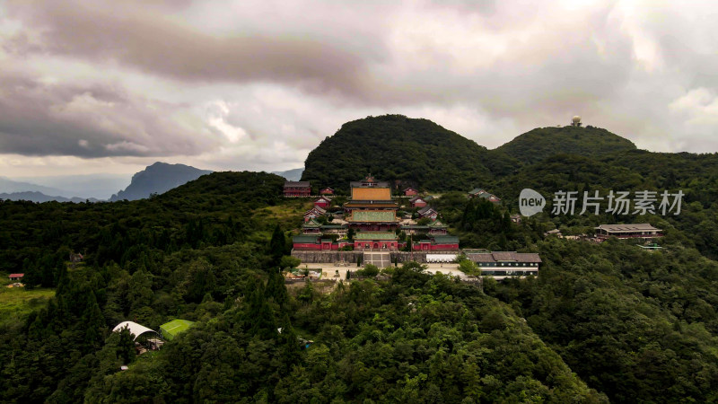
[[[407,190],[398,190],[398,198],[405,198]],[[494,203],[501,200],[485,189],[472,189],[469,198]],[[304,216],[302,233],[293,236],[292,255],[304,262],[340,265],[364,262],[383,268],[392,262],[416,260],[442,265],[457,262],[463,252],[484,276],[503,279],[538,275],[541,259],[536,253],[460,250],[459,237],[449,234],[448,226],[439,219],[439,212],[429,205],[430,197],[415,195],[409,199],[411,208],[415,209],[413,216],[423,220],[417,223],[406,212],[402,213],[402,219],[390,183],[375,180],[371,175],[350,182],[349,199],[342,206],[345,215],[335,212],[343,220],[328,223],[326,218],[333,216],[320,206],[324,200],[315,201],[315,206]],[[428,224],[427,218],[431,219]],[[520,217],[512,217],[515,223],[519,220]]]

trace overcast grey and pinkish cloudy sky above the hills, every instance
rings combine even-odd
[[[279,171],[401,113],[718,152],[718,2],[0,1],[0,176]]]

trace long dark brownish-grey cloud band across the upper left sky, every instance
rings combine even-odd
[[[356,54],[346,42],[332,40],[330,32],[322,35],[320,27],[317,35],[311,31],[270,34],[243,31],[240,24],[236,33],[212,35],[168,17],[164,8],[141,2],[80,4],[11,2],[11,16],[30,23],[38,38],[33,41],[19,33],[9,48],[94,63],[118,61],[188,84],[268,81],[342,92],[355,92],[366,83],[365,58],[381,54],[376,47],[368,55]]]

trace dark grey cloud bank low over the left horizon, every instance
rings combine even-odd
[[[0,150],[4,154],[198,154],[216,145],[178,125],[176,105],[136,98],[106,83],[40,83],[0,74]]]

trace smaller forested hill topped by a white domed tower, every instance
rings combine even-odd
[[[631,141],[606,129],[589,126],[538,127],[495,150],[530,164],[556,154],[598,156],[634,149]]]

